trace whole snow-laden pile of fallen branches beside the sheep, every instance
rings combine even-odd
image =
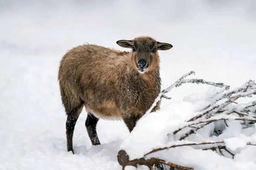
[[[123,166],[123,169],[127,165],[132,165],[136,167],[137,164],[140,164],[140,165],[146,165],[149,167],[150,170],[153,170],[154,164],[166,164],[166,165],[169,165],[171,169],[173,167],[176,167],[183,170],[193,170],[193,167],[190,167],[190,165],[186,167],[180,161],[172,162],[173,157],[172,159],[168,159],[168,157],[166,156],[161,156],[162,152],[165,153],[166,155],[169,155],[170,152],[168,152],[168,149],[171,149],[171,148],[173,149],[174,148],[179,149],[184,147],[186,149],[192,148],[194,149],[192,150],[193,152],[195,150],[198,150],[198,148],[200,148],[201,151],[214,150],[220,156],[228,156],[229,158],[230,157],[233,158],[237,153],[236,148],[239,148],[239,147],[243,148],[247,145],[256,146],[256,141],[252,140],[252,138],[244,137],[243,139],[241,139],[241,136],[245,136],[245,135],[227,137],[227,138],[225,137],[218,138],[217,136],[219,134],[221,133],[224,134],[226,132],[225,131],[222,132],[222,130],[220,133],[215,132],[215,125],[220,125],[221,122],[223,122],[222,126],[224,126],[224,128],[229,128],[229,130],[230,128],[235,128],[235,129],[237,128],[234,126],[233,127],[228,126],[228,124],[230,123],[231,125],[235,124],[243,127],[251,127],[252,124],[256,122],[256,100],[251,100],[247,103],[239,103],[239,100],[238,100],[240,98],[252,97],[253,95],[256,95],[255,81],[249,80],[241,87],[234,88],[233,90],[229,90],[230,87],[227,85],[224,85],[223,83],[208,82],[203,79],[185,79],[185,77],[191,74],[195,74],[195,72],[190,71],[189,73],[183,75],[171,86],[161,91],[161,93],[158,95],[157,99],[155,100],[154,104],[146,112],[145,116],[151,113],[152,109],[155,107],[157,102],[160,101],[162,97],[166,99],[170,99],[170,97],[165,95],[166,93],[171,91],[172,88],[179,87],[184,83],[190,82],[190,83],[196,83],[196,84],[207,84],[207,85],[212,85],[218,88],[213,88],[214,90],[209,91],[209,93],[207,92],[200,97],[195,97],[195,99],[198,99],[200,101],[199,103],[201,104],[196,105],[196,103],[194,102],[194,98],[191,98],[192,99],[191,101],[193,101],[192,102],[193,105],[197,106],[196,107],[197,110],[191,111],[187,109],[186,112],[191,112],[191,113],[189,114],[189,116],[186,117],[186,120],[184,120],[184,118],[178,119],[179,110],[180,112],[182,112],[183,110],[183,108],[181,108],[180,105],[177,105],[178,108],[174,109],[175,111],[172,112],[172,114],[175,115],[175,119],[177,119],[177,121],[173,120],[172,116],[168,116],[168,111],[161,112],[161,110],[158,113],[151,113],[151,116],[144,117],[144,119],[140,121],[140,129],[137,129],[137,131],[140,133],[133,134],[134,137],[131,137],[131,139],[125,142],[124,146],[121,147],[122,150],[120,150],[118,153],[118,161],[119,161],[119,164]],[[190,99],[190,98],[186,98],[186,101],[187,99]],[[186,106],[189,106],[189,105],[186,105]],[[172,111],[172,107],[170,106],[170,112],[171,111]],[[186,113],[186,112],[183,112],[183,113]],[[162,113],[161,116],[164,115],[164,117],[161,117],[161,116],[157,117],[157,114],[160,114],[160,113]],[[160,119],[163,120],[163,125],[161,125],[161,122],[159,122]],[[159,131],[155,130],[155,128],[152,129],[151,124],[148,123],[148,120],[151,120],[151,121],[155,120],[157,125],[160,126]],[[152,121],[151,123],[153,122],[154,121]],[[147,123],[149,124],[149,126]],[[214,132],[217,134],[216,136],[214,136],[214,138],[207,138],[201,135],[203,131],[205,131],[207,128],[212,126],[214,126],[214,129],[212,129],[211,133]],[[206,127],[206,128],[202,129],[203,127]],[[145,130],[147,128],[151,130],[149,131]],[[168,132],[166,132],[166,130],[168,130]],[[195,133],[198,133],[198,134],[192,135]],[[228,130],[227,130],[227,133],[228,133]],[[148,140],[152,139],[153,141],[154,140],[157,141],[155,138],[159,137],[162,140],[162,142],[166,141],[167,140],[166,138],[163,139],[161,137],[161,134],[165,134],[168,136],[168,140],[170,141],[167,143],[161,143],[161,142],[158,143],[158,141],[149,142],[150,143],[149,147],[144,147],[144,144],[147,143],[146,141],[147,134],[149,136]],[[142,136],[146,138],[143,139]],[[194,139],[197,136],[201,136],[201,137],[199,139]],[[210,135],[208,136],[210,137]],[[135,144],[138,144],[139,147],[134,147],[137,149],[134,149],[133,152],[131,152],[131,147],[132,147],[131,142],[139,140],[138,138],[140,138],[140,141],[143,140],[145,143],[143,143],[142,145],[141,142],[134,142]],[[157,145],[158,147],[154,146],[154,144]],[[140,150],[142,146],[143,146],[143,154],[141,153],[133,154],[137,150]],[[147,148],[150,148],[150,149],[147,149]],[[157,153],[159,151],[162,151],[162,152]],[[129,155],[133,156],[132,160],[129,159]],[[160,158],[163,158],[163,160],[161,160]],[[178,164],[183,166],[180,166]]]

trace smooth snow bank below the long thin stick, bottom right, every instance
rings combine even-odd
[[[198,150],[192,147],[172,148],[146,156],[168,160],[174,164],[193,167],[195,170],[253,170],[256,164],[252,161],[232,161],[218,156],[212,150]]]

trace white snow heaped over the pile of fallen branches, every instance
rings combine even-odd
[[[209,105],[209,96],[218,94],[219,91],[220,88],[209,88],[205,93],[191,94],[184,97],[186,102],[173,102],[166,105],[160,111],[144,115],[131,134],[121,144],[120,149],[125,150],[130,160],[139,159],[146,155],[145,158],[148,159],[155,157],[181,166],[192,167],[195,170],[210,170],[215,168],[218,170],[239,170],[241,165],[244,164],[241,163],[241,161],[245,162],[244,159],[240,161],[235,156],[236,159],[233,161],[230,159],[230,155],[228,155],[229,153],[225,150],[221,150],[221,152],[227,156],[227,158],[218,153],[200,149],[216,147],[216,144],[212,143],[217,142],[217,146],[223,146],[225,144],[227,149],[233,151],[233,154],[246,154],[244,153],[244,150],[246,150],[247,147],[250,147],[247,145],[247,142],[256,143],[255,125],[253,125],[253,127],[243,127],[243,125],[241,125],[242,121],[233,121],[234,119],[239,118],[236,115],[218,114],[207,120],[229,119],[227,121],[227,127],[222,129],[223,132],[220,135],[213,135],[215,126],[217,126],[218,129],[221,129],[219,126],[221,127],[222,125],[218,123],[211,123],[205,126],[198,130],[197,133],[188,136],[182,141],[180,141],[180,135],[173,135],[175,130],[199,122],[197,120],[194,122],[185,122],[185,120],[189,120],[201,113],[200,111]],[[204,101],[205,99],[207,101]],[[212,100],[214,99],[215,97],[213,97]],[[205,105],[206,103],[207,105]],[[202,122],[201,119],[199,120]],[[222,124],[224,124],[224,122],[222,122]],[[207,144],[207,146],[205,146],[206,144],[196,145],[202,142],[210,142],[211,144]],[[194,144],[194,146],[181,146],[176,148],[177,145],[180,146],[184,144]],[[169,147],[169,149],[148,155],[148,153],[154,149],[165,147]],[[256,147],[252,149],[256,150]],[[222,163],[224,161],[225,164]],[[251,168],[256,168],[255,162],[247,161],[244,169],[249,170]]]

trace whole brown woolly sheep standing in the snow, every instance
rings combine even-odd
[[[96,124],[99,119],[123,119],[129,131],[151,107],[160,93],[160,58],[157,50],[171,44],[151,37],[119,40],[122,52],[98,45],[79,45],[61,59],[58,81],[67,113],[67,150],[73,152],[73,132],[85,106],[85,126],[93,145],[100,144]],[[153,111],[160,108],[160,102]]]

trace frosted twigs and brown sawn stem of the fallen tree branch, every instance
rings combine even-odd
[[[189,135],[196,133],[196,131],[201,129],[202,127],[219,120],[224,120],[226,126],[227,126],[227,123],[226,123],[227,120],[244,121],[244,123],[256,122],[256,116],[254,116],[256,114],[256,101],[249,102],[247,104],[239,104],[238,102],[236,102],[236,100],[241,97],[251,97],[252,95],[256,95],[255,81],[249,80],[248,82],[246,82],[244,86],[240,88],[228,90],[229,86],[224,85],[223,83],[208,82],[203,79],[185,79],[185,77],[191,74],[195,74],[195,71],[190,71],[189,73],[183,75],[171,86],[161,91],[157,99],[155,99],[153,105],[151,105],[151,108],[148,109],[148,111],[145,114],[150,113],[152,109],[157,105],[157,102],[161,100],[161,98],[171,99],[171,97],[168,97],[165,94],[171,91],[172,88],[179,87],[184,83],[190,82],[190,83],[197,83],[197,84],[201,83],[201,84],[213,85],[215,87],[221,87],[221,88],[216,89],[214,93],[211,93],[207,96],[207,98],[205,99],[207,102],[209,102],[209,105],[207,107],[202,108],[202,110],[196,116],[187,120],[186,123],[183,125],[183,127],[180,127],[178,130],[173,132],[173,135],[176,135],[178,132],[186,128],[186,130],[182,131],[184,135],[180,138],[177,138],[180,141],[182,141]],[[233,103],[235,103],[235,105],[232,105]],[[230,115],[231,113],[236,113],[236,115]],[[247,142],[246,144],[256,146],[256,143]],[[225,142],[222,140],[222,141],[216,141],[216,142],[184,141],[183,144],[174,144],[168,147],[151,150],[150,152],[146,153],[143,156],[143,158],[134,159],[134,160],[129,160],[129,156],[125,152],[125,150],[120,150],[117,158],[118,158],[119,164],[123,167],[123,170],[125,169],[125,166],[128,166],[128,165],[131,165],[134,167],[137,167],[137,165],[145,165],[145,166],[148,166],[150,170],[153,170],[154,164],[166,164],[166,165],[169,165],[172,170],[174,170],[174,167],[178,169],[183,169],[183,170],[193,170],[190,167],[182,167],[177,164],[172,164],[156,158],[151,158],[146,160],[145,156],[161,150],[168,150],[174,147],[196,146],[196,145],[200,145],[200,146],[208,145],[209,147],[208,149],[215,150],[217,153],[223,156],[224,156],[223,154],[224,150],[228,154],[230,154],[232,157],[235,156],[230,150],[228,150],[228,148],[225,145]],[[204,148],[204,147],[200,147],[200,148]],[[208,149],[204,148],[203,150],[208,150]]]

